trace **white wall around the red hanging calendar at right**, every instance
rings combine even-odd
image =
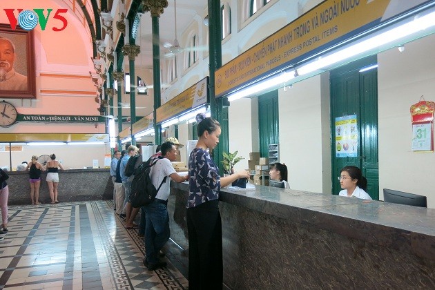
[[[421,95],[435,101],[435,36],[418,39],[378,55],[379,189],[395,189],[427,196],[435,208],[434,153],[411,150],[409,107]]]

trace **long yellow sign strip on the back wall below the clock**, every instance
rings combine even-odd
[[[108,134],[19,133],[0,134],[0,142],[108,142]]]

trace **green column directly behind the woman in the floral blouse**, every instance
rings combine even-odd
[[[209,0],[209,59],[210,59],[210,110],[211,117],[217,119],[220,123],[222,134],[220,142],[213,150],[213,160],[222,170],[222,152],[229,151],[228,137],[228,107],[224,108],[223,99],[215,99],[215,71],[222,66],[222,35],[221,35],[221,19],[220,19],[220,1]]]

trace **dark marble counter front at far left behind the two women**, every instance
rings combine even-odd
[[[29,173],[8,171],[9,204],[30,204]],[[49,203],[47,173],[41,174],[39,202]],[[113,199],[110,169],[68,169],[59,171],[59,202]]]

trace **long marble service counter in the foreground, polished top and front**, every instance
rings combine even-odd
[[[189,185],[172,186],[171,238],[186,252]],[[220,200],[230,289],[435,287],[434,209],[269,186]]]

